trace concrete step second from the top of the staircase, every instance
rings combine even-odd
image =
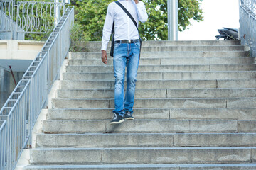
[[[101,47],[85,47],[87,52],[101,52]],[[142,52],[157,52],[157,51],[245,51],[246,47],[242,45],[181,45],[181,46],[144,46]],[[110,52],[110,47],[107,47],[107,53]]]

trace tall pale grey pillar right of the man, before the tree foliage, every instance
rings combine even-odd
[[[168,40],[178,40],[178,0],[168,0]]]

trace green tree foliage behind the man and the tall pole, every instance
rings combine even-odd
[[[107,6],[114,0],[81,0],[77,2],[76,22],[84,31],[85,39],[101,40]],[[178,0],[178,29],[186,30],[190,19],[203,21],[200,8],[203,0]],[[167,0],[144,0],[149,20],[139,24],[139,33],[144,40],[167,40]]]

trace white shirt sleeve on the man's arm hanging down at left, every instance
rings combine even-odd
[[[107,15],[105,18],[104,27],[102,30],[102,49],[107,50],[107,44],[110,41],[110,35],[112,31],[112,26],[114,22],[114,8],[112,4],[107,7]]]

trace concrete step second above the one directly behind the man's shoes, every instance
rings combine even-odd
[[[135,98],[247,98],[255,96],[256,89],[136,89],[135,91]],[[60,89],[57,91],[57,98],[114,98],[114,89]]]

